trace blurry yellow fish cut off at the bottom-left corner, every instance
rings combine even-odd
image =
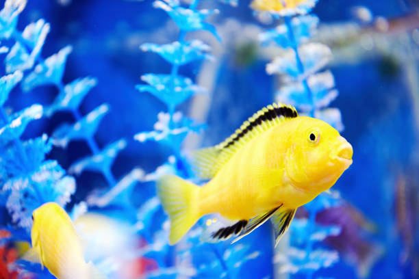
[[[32,248],[23,259],[40,263],[58,279],[105,278],[84,261],[81,241],[70,216],[55,202],[47,202],[32,213]]]

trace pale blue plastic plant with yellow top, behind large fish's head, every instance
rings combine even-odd
[[[317,16],[309,14],[316,2],[255,0],[251,7],[257,12],[267,12],[279,21],[275,29],[259,36],[262,44],[273,43],[283,49],[283,54],[266,66],[268,74],[281,77],[281,87],[275,99],[292,104],[300,114],[329,122],[342,131],[340,110],[328,107],[338,96],[333,74],[329,70],[320,72],[331,59],[331,50],[324,44],[307,42],[319,22]],[[308,217],[296,219],[291,224],[292,247],[275,256],[279,272],[303,273],[310,278],[314,271],[338,262],[338,252],[317,248],[317,243],[328,236],[339,235],[340,228],[316,224],[317,213],[338,204],[338,194],[321,194],[305,206]]]

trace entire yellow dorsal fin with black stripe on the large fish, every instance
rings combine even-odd
[[[227,137],[224,142],[192,152],[192,170],[202,179],[210,179],[225,165],[233,155],[255,138],[283,121],[296,118],[297,111],[290,105],[273,103],[257,111],[240,129]]]

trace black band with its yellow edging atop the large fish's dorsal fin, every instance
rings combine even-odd
[[[233,135],[228,137],[224,142],[218,144],[216,148],[223,149],[229,148],[230,146],[239,142],[240,139],[249,135],[249,132],[253,129],[261,129],[264,131],[270,127],[270,122],[276,122],[279,118],[295,118],[299,116],[296,109],[290,105],[284,105],[282,103],[273,103],[263,109],[257,111],[249,120],[245,121],[240,129],[236,130]],[[264,126],[264,127],[262,127]]]

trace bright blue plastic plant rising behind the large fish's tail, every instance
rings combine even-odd
[[[229,1],[236,5],[236,1]],[[210,46],[201,40],[186,40],[188,31],[209,31],[218,40],[218,34],[214,26],[205,19],[217,10],[199,10],[199,1],[194,0],[188,8],[183,7],[179,1],[155,1],[155,8],[167,12],[168,16],[179,27],[179,37],[175,42],[168,44],[146,43],[141,45],[143,51],[157,53],[171,64],[170,73],[142,75],[142,81],[147,84],[137,85],[140,92],[149,92],[158,98],[167,107],[167,112],[160,112],[155,123],[154,131],[141,132],[135,135],[139,142],[153,140],[170,146],[173,156],[168,160],[165,168],[159,168],[154,174],[157,178],[161,174],[174,172],[180,176],[194,179],[189,170],[187,161],[181,155],[181,143],[190,132],[199,132],[203,124],[196,124],[194,120],[186,118],[181,112],[176,111],[177,106],[185,102],[194,94],[205,93],[205,88],[197,85],[190,79],[179,75],[179,67],[197,60],[212,59]],[[160,224],[152,224],[160,216]],[[249,252],[247,245],[229,245],[229,243],[209,244],[199,240],[202,228],[192,230],[186,239],[179,243],[176,251],[168,246],[168,231],[166,215],[162,213],[160,201],[157,197],[150,198],[138,211],[140,233],[150,242],[144,248],[144,255],[155,258],[159,269],[151,271],[148,275],[158,276],[214,276],[221,278],[236,278],[240,268],[247,261],[257,258],[259,252]],[[164,226],[164,230],[160,228]],[[149,230],[157,229],[157,232]],[[175,255],[174,255],[175,254]],[[142,254],[143,255],[143,254]],[[168,258],[170,260],[168,260]]]

